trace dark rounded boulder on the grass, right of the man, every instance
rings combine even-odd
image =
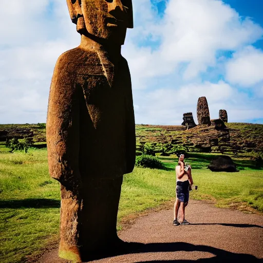
[[[222,155],[211,161],[208,168],[212,172],[237,172],[236,164],[233,162],[231,157],[226,155]]]

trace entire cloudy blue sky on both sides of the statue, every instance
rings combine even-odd
[[[0,10],[0,123],[45,122],[59,55],[79,45],[65,0],[4,2]],[[134,29],[122,54],[133,83],[136,123],[196,120],[198,97],[211,118],[263,123],[263,1],[133,0]],[[196,120],[197,121],[197,120]]]

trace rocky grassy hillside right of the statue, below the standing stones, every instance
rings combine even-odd
[[[136,125],[137,149],[146,142],[182,145],[189,152],[248,155],[263,149],[263,125],[250,123],[226,123],[227,128],[216,130],[214,126],[198,125],[192,129],[183,126]]]

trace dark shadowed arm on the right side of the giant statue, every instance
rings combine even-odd
[[[126,173],[132,173],[135,165],[136,158],[136,135],[135,135],[135,117],[134,117],[134,104],[133,104],[133,92],[132,81],[130,80],[130,72],[127,61],[125,60],[127,67],[127,87],[125,97],[125,128],[126,128]]]

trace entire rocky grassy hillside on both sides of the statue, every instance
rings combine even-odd
[[[222,153],[249,156],[252,151],[263,149],[263,125],[250,123],[226,123],[227,128],[216,130],[214,126],[198,125],[187,130],[184,126],[136,125],[137,150],[146,142],[155,152],[165,147],[185,146],[189,152]],[[46,126],[38,124],[2,124],[0,141],[6,137],[31,137],[35,144],[45,143]]]

